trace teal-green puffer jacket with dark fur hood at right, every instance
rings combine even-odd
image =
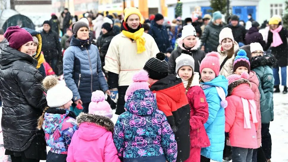
[[[251,58],[251,70],[255,71],[259,79],[261,123],[268,124],[274,120],[273,112],[273,86],[272,71],[274,56],[258,56]]]

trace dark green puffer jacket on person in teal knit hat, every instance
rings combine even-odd
[[[217,51],[219,46],[219,34],[223,29],[223,24],[215,25],[212,21],[205,27],[201,36],[201,41],[205,46],[205,52]]]

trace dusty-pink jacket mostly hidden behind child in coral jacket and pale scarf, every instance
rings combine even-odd
[[[255,101],[255,104],[257,106],[257,111],[259,114],[259,123],[261,123],[260,92],[258,89],[259,80],[258,80],[258,77],[254,71],[250,71],[250,73],[249,73],[249,82],[251,83],[251,89],[255,95],[254,101]],[[258,144],[258,148],[259,148],[261,146],[261,124],[258,125],[258,129],[257,129],[256,134],[257,134],[257,144]]]

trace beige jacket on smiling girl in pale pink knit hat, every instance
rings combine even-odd
[[[223,63],[224,59],[226,58],[227,54],[226,51],[221,51],[221,44],[217,47],[217,51],[220,54],[220,65]],[[236,41],[234,41],[234,52],[239,49],[239,45]],[[231,58],[229,58],[226,63],[224,64],[223,68],[220,70],[219,75],[224,75],[224,77],[228,77],[229,75],[233,74],[233,62],[234,62],[234,54]]]

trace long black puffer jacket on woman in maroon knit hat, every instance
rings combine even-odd
[[[4,147],[21,152],[29,148],[38,130],[37,119],[47,106],[37,61],[5,46],[0,54],[0,94]]]

